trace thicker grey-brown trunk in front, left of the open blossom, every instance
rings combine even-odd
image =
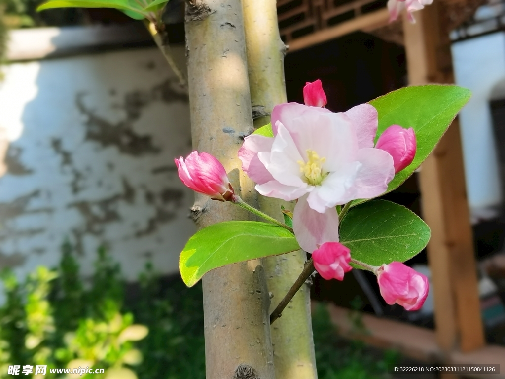
[[[240,0],[189,0],[186,54],[193,147],[218,158],[235,192],[255,205],[254,183],[237,158],[252,129]],[[230,203],[196,196],[201,228],[247,219]],[[274,379],[269,297],[260,261],[215,269],[203,278],[207,379]]]

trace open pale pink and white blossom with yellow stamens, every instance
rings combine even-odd
[[[245,138],[239,158],[257,191],[298,200],[293,229],[308,252],[338,242],[336,205],[384,193],[394,177],[393,158],[374,148],[377,111],[362,104],[344,113],[297,103],[272,111],[274,138]]]

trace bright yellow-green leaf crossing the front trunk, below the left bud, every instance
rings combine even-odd
[[[294,235],[265,222],[227,221],[196,232],[179,258],[182,280],[192,287],[205,273],[228,264],[298,250]]]

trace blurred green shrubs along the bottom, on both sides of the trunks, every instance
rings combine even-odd
[[[23,282],[7,270],[1,279],[6,302],[0,307],[0,379],[10,377],[9,364],[106,369],[76,375],[88,379],[205,378],[199,284],[188,289],[181,280],[163,279],[151,264],[137,284],[128,284],[103,248],[94,274],[83,282],[69,244],[57,269],[38,267]],[[353,306],[358,309],[360,299]],[[359,313],[349,317],[363,331]],[[313,328],[320,379],[386,378],[387,365],[398,358],[338,337],[322,305]],[[47,370],[44,377],[65,375]]]

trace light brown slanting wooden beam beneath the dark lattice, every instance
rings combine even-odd
[[[360,16],[333,27],[325,28],[307,36],[291,40],[289,41],[289,49],[287,52],[292,53],[359,30],[365,32],[371,31],[387,25],[388,20],[389,13],[387,9],[372,12],[365,16]],[[281,30],[281,34],[284,34],[284,30]]]

